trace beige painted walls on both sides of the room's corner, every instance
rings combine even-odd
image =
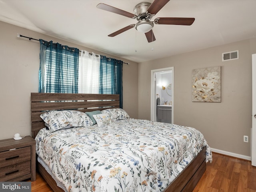
[[[0,139],[30,135],[30,92],[38,92],[39,43],[17,33],[129,62],[123,68],[124,109],[132,118],[150,119],[152,69],[174,66],[174,123],[200,130],[212,148],[250,156],[252,75],[256,38],[140,63],[0,22]],[[186,46],[184,44],[184,46]],[[239,60],[222,62],[222,52],[239,50]],[[222,102],[191,101],[192,69],[222,66]]]

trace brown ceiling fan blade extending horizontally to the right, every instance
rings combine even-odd
[[[195,18],[160,17],[154,20],[155,24],[164,25],[192,25]]]

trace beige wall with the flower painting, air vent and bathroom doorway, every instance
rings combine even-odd
[[[186,43],[184,43],[186,46]],[[222,53],[239,50],[239,59],[222,62]],[[150,71],[174,67],[174,124],[200,130],[210,147],[250,157],[252,53],[256,38],[139,63],[138,118],[150,119]],[[192,102],[192,70],[221,66],[221,102]]]

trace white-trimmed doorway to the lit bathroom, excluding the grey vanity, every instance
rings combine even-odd
[[[171,123],[174,122],[174,67],[151,70],[151,120],[157,121],[156,100],[160,105],[171,106]]]

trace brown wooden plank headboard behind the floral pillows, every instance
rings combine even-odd
[[[31,131],[35,138],[45,127],[40,115],[49,110],[81,112],[119,108],[118,94],[31,93]]]

